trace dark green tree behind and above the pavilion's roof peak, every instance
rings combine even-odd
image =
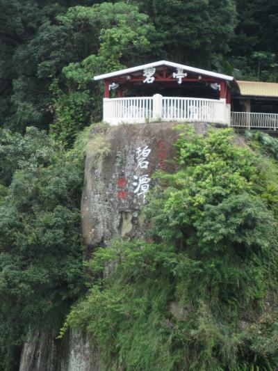
[[[141,0],[154,22],[165,56],[172,61],[211,68],[213,54],[227,52],[236,25],[233,0]]]

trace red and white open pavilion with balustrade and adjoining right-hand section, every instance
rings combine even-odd
[[[94,79],[104,82],[104,121],[111,125],[171,120],[248,128],[278,127],[278,111],[257,113],[251,110],[251,102],[259,109],[260,103],[254,105],[254,102],[263,99],[265,104],[270,98],[258,100],[254,95],[258,89],[254,89],[254,84],[260,84],[261,90],[270,90],[270,94],[276,95],[271,97],[270,104],[278,103],[278,84],[267,89],[264,84],[269,83],[255,82],[252,90],[246,84],[251,84],[250,81],[236,81],[226,74],[169,61],[138,65],[101,74]],[[231,112],[231,106],[236,110]],[[272,110],[277,108],[272,104]]]

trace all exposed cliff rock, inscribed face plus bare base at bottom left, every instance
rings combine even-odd
[[[119,125],[90,134],[81,203],[83,240],[88,253],[106,246],[116,235],[144,235],[141,209],[158,170],[173,171],[176,123]],[[192,124],[204,134],[208,124]],[[26,343],[19,371],[99,371],[99,354],[83,333],[70,332],[63,341],[42,333]]]

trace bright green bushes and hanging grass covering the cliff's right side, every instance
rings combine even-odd
[[[93,253],[60,336],[85,327],[107,370],[277,370],[277,205],[260,153],[235,141],[187,129],[145,207],[152,238]]]

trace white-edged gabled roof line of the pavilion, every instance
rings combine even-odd
[[[154,63],[147,63],[145,65],[138,65],[136,67],[126,68],[125,70],[110,72],[106,74],[99,74],[99,76],[95,76],[94,79],[104,80],[104,79],[109,79],[111,77],[117,77],[123,74],[131,74],[133,72],[142,71],[142,70],[145,70],[146,68],[152,68],[152,67],[157,68],[157,67],[162,67],[162,66],[170,67],[170,68],[181,68],[182,70],[185,70],[187,72],[193,72],[196,74],[200,74],[202,76],[215,77],[217,79],[222,79],[226,81],[234,81],[234,77],[228,76],[227,74],[220,74],[217,72],[202,70],[201,68],[190,67],[189,65],[181,65],[179,63],[168,62],[168,61],[158,61]]]

